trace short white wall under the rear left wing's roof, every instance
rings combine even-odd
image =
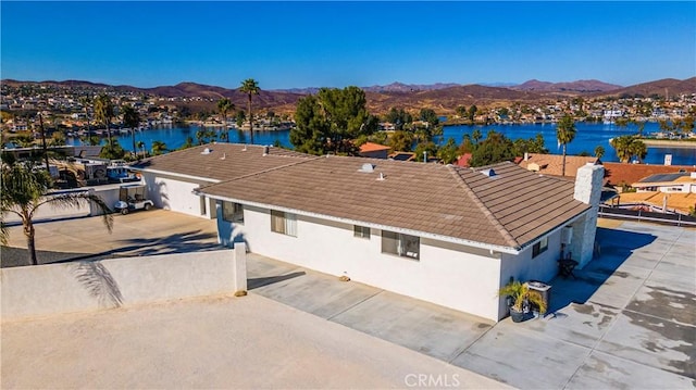
[[[214,206],[210,206],[211,202],[207,201],[204,210],[201,211],[201,198],[194,194],[194,190],[200,187],[200,183],[185,181],[147,172],[142,172],[141,175],[147,185],[148,198],[154,202],[156,207],[203,218],[215,216]]]

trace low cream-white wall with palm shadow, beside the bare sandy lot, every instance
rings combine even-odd
[[[2,319],[233,293],[246,289],[235,282],[241,257],[223,250],[3,268]]]

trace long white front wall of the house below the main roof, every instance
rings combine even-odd
[[[298,215],[297,237],[290,237],[271,231],[269,210],[247,205],[244,226],[231,229],[217,221],[219,229],[227,231],[224,235],[243,235],[253,253],[337,277],[347,275],[492,320],[500,318],[500,260],[486,250],[421,238],[420,261],[414,261],[383,254],[380,229],[371,229],[370,239],[363,239],[353,237],[353,225]],[[234,240],[221,237],[221,242]]]

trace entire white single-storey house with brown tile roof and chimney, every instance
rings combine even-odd
[[[510,278],[557,275],[562,240],[581,266],[592,259],[604,176],[587,165],[574,185],[512,163],[472,169],[231,143],[135,167],[161,204],[216,216],[224,246],[244,241],[490,320],[507,315],[497,291]]]

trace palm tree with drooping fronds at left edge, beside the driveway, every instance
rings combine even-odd
[[[102,219],[109,232],[113,227],[113,218],[110,214],[111,210],[104,201],[89,192],[70,192],[51,196],[52,187],[51,177],[46,171],[33,169],[32,166],[22,163],[11,165],[2,165],[2,194],[1,214],[2,223],[2,242],[7,242],[7,230],[4,226],[4,215],[7,213],[16,214],[24,227],[26,236],[28,260],[32,265],[37,265],[36,259],[36,231],[34,229],[34,216],[37,210],[45,205],[51,204],[54,207],[75,207],[91,203],[97,205],[102,213]]]

